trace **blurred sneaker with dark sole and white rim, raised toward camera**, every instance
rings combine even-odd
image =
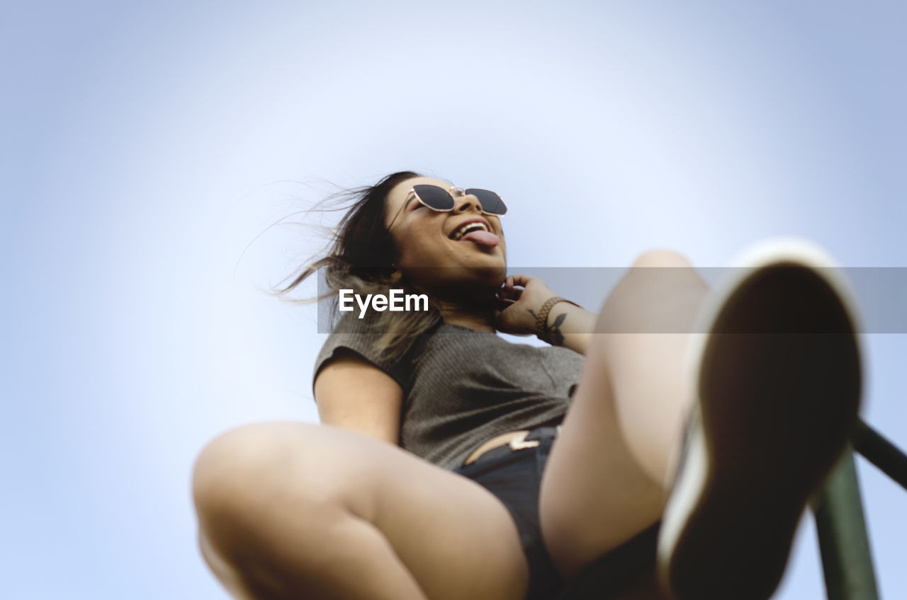
[[[796,527],[857,417],[861,359],[852,293],[798,239],[736,263],[697,317],[697,402],[658,537],[658,575],[680,600],[764,600]]]

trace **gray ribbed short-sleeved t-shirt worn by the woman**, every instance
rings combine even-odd
[[[389,363],[373,348],[375,319],[357,317],[347,313],[327,336],[314,376],[338,348],[390,375],[404,392],[400,446],[444,469],[496,435],[561,422],[585,360],[568,348],[512,344],[443,323]]]

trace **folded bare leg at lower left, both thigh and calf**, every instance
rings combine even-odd
[[[469,479],[395,446],[306,423],[212,441],[196,463],[200,542],[237,597],[520,600],[510,513]]]

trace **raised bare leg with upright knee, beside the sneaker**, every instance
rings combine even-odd
[[[682,331],[707,295],[705,282],[673,252],[650,251],[633,266],[639,268],[602,306],[597,331],[658,332],[658,324],[660,331]],[[678,268],[646,273],[641,267]],[[541,483],[542,534],[564,575],[658,520],[668,463],[692,400],[684,395],[688,339],[686,333],[593,335]]]

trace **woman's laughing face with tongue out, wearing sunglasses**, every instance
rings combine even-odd
[[[453,210],[438,212],[424,206],[412,194],[415,185],[433,185],[450,190]],[[417,285],[432,290],[451,285],[498,287],[507,272],[507,254],[501,221],[486,215],[473,195],[452,189],[444,179],[416,177],[398,183],[385,201],[385,226],[394,237],[399,254],[398,268]],[[455,239],[458,227],[481,219],[498,238],[484,236],[482,241]]]

